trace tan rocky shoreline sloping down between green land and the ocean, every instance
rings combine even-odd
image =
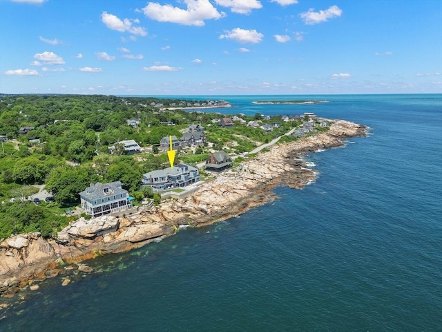
[[[21,288],[38,288],[38,282],[71,270],[93,272],[81,261],[111,252],[122,252],[168,237],[180,225],[207,225],[265,204],[280,185],[300,189],[316,175],[302,154],[339,147],[349,137],[366,136],[367,127],[331,120],[329,131],[275,145],[247,160],[237,169],[219,174],[184,199],[170,199],[160,206],[129,216],[81,218],[59,232],[55,239],[39,233],[19,234],[0,242],[0,296],[12,297]],[[122,213],[123,214],[123,213]],[[63,286],[69,284],[64,278]],[[1,308],[5,305],[0,304]]]

